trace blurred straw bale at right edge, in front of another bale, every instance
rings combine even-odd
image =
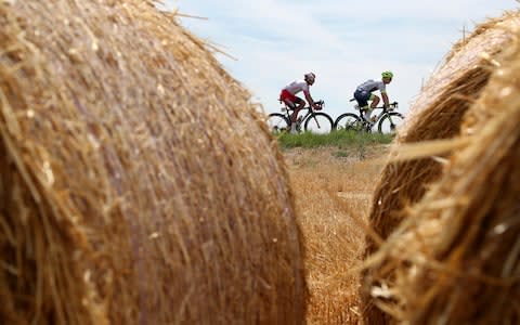
[[[520,321],[520,25],[441,177],[380,249],[405,324]],[[381,265],[379,265],[381,266]]]

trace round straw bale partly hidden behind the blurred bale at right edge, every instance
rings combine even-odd
[[[456,43],[437,69],[411,107],[410,116],[399,130],[390,155],[402,146],[421,141],[452,139],[459,133],[468,108],[479,99],[496,68],[495,60],[517,37],[514,29],[520,25],[520,12],[506,12],[502,17],[479,25],[466,39]],[[367,236],[365,259],[379,248],[399,223],[407,216],[407,208],[419,202],[430,184],[442,174],[442,164],[432,157],[389,162],[384,168],[374,194],[369,222],[380,236]],[[373,304],[376,278],[390,278],[393,265],[369,266],[363,274],[363,318],[368,324],[390,320]],[[385,299],[384,299],[385,300]]]

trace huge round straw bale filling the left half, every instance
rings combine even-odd
[[[298,324],[282,156],[151,1],[0,1],[0,323]]]

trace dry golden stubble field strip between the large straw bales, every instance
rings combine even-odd
[[[359,324],[359,266],[370,195],[381,166],[355,152],[291,150],[284,156],[296,196],[307,252],[309,324]],[[372,148],[376,158],[385,147]]]

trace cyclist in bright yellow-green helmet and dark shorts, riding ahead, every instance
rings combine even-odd
[[[358,86],[358,88],[355,89],[354,99],[358,102],[358,105],[360,105],[360,109],[365,110],[364,118],[366,119],[366,121],[373,122],[373,120],[370,119],[372,110],[374,110],[377,104],[379,104],[380,99],[373,93],[374,91],[380,91],[385,108],[388,108],[390,106],[387,94],[387,84],[392,81],[392,72],[384,72],[381,74],[380,81],[374,81],[373,79],[369,79]],[[369,106],[368,101],[372,101]]]

